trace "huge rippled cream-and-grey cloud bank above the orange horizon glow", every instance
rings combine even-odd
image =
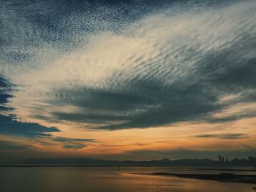
[[[256,4],[228,2],[217,7],[172,2],[162,12],[156,8],[147,14],[132,9],[134,18],[124,22],[118,17],[129,12],[120,16],[120,7],[107,6],[114,15],[106,16],[105,4],[91,9],[94,20],[81,9],[59,13],[59,20],[71,26],[43,19],[54,7],[42,11],[37,20],[28,13],[19,18],[18,26],[12,20],[13,28],[6,30],[14,35],[2,35],[12,44],[1,47],[1,74],[18,90],[7,99],[5,107],[13,109],[7,113],[23,122],[108,130],[254,116],[256,109],[243,116],[216,115],[231,104],[255,103]],[[2,9],[7,12],[10,5]],[[7,23],[24,9],[1,18]],[[42,32],[38,24],[44,22],[48,31]],[[15,31],[23,32],[23,41],[17,42]],[[38,45],[26,45],[31,37]]]

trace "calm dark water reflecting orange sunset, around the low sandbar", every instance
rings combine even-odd
[[[254,191],[252,188],[255,187],[252,184],[221,183],[211,180],[144,174],[149,172],[210,173],[210,171],[168,167],[126,167],[119,171],[114,167],[0,168],[0,191]],[[214,172],[211,171],[211,173]],[[253,173],[246,172],[246,174]]]

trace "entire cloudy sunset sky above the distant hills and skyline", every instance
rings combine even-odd
[[[256,156],[256,1],[0,2],[0,156]]]

